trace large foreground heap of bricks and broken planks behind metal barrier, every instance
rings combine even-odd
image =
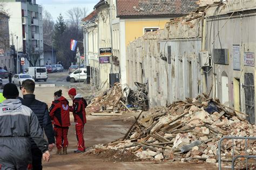
[[[207,96],[187,98],[140,115],[124,138],[97,149],[132,151],[140,160],[216,163],[222,137],[256,135],[256,126],[248,123],[244,113]],[[234,154],[256,154],[255,141],[248,140],[247,151],[245,146],[245,140],[234,140]],[[224,140],[221,151],[221,159],[230,162],[232,140]]]

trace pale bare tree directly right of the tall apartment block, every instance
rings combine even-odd
[[[43,31],[44,31],[44,43],[51,45],[53,36],[54,22],[51,13],[43,9]]]

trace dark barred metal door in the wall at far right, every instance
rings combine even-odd
[[[245,112],[248,114],[247,120],[255,124],[254,113],[254,76],[252,73],[245,73]]]

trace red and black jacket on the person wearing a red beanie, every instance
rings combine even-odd
[[[73,112],[75,123],[85,124],[86,113],[85,108],[87,106],[86,100],[81,94],[77,94],[73,99],[73,105],[70,111]]]

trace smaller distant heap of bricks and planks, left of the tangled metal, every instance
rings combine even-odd
[[[92,99],[92,102],[86,107],[87,113],[92,112],[120,112],[125,111],[123,103],[122,85],[114,84],[113,87]]]

